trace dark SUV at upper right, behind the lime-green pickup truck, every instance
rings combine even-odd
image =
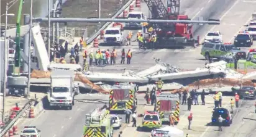
[[[236,47],[250,47],[253,44],[252,36],[248,33],[239,33],[235,36],[234,45]]]

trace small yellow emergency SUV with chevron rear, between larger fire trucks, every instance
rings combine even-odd
[[[162,120],[160,114],[155,111],[146,111],[142,120],[142,128],[160,128],[162,127]]]

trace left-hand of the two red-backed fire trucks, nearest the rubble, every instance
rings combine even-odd
[[[132,83],[116,83],[109,94],[110,110],[136,109],[135,85]]]

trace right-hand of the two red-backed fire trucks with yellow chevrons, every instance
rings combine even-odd
[[[160,114],[163,122],[170,122],[169,116],[173,114],[174,122],[180,121],[180,98],[178,94],[160,93],[157,95],[155,110]]]

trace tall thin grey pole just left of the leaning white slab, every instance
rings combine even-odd
[[[29,75],[27,76],[27,97],[30,96],[30,73],[31,73],[31,44],[32,44],[32,7],[33,0],[30,0],[30,20],[29,20]]]

